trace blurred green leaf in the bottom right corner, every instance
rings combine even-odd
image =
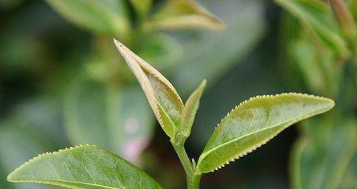
[[[335,116],[306,122],[307,136],[296,142],[292,153],[293,188],[340,188],[351,159],[356,153],[357,122]]]

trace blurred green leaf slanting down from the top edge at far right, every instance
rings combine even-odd
[[[338,23],[326,2],[319,0],[275,1],[276,4],[296,16],[324,46],[331,48],[341,58],[348,56],[349,51],[343,37],[339,34]]]

